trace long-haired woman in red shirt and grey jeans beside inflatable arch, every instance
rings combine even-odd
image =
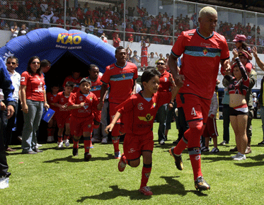
[[[24,114],[22,133],[22,153],[35,154],[42,152],[36,148],[36,131],[40,125],[43,107],[48,109],[45,81],[40,69],[39,57],[31,57],[27,71],[21,74],[21,103]]]

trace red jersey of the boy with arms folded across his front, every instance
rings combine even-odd
[[[94,117],[97,122],[100,122],[98,117],[99,110],[97,110],[99,100],[96,98],[96,95],[90,92],[87,96],[85,96],[81,93],[81,91],[71,93],[68,106],[79,105],[81,102],[85,102],[84,106],[71,110],[71,115],[74,117],[85,117],[86,119],[93,119]]]

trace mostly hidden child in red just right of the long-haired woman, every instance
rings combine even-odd
[[[56,128],[58,109],[54,106],[53,101],[57,93],[59,92],[59,85],[53,85],[51,87],[51,90],[51,92],[47,93],[47,103],[50,105],[50,108],[55,111],[55,114],[53,115],[52,119],[50,119],[50,122],[47,124],[47,142],[54,141],[54,131]]]

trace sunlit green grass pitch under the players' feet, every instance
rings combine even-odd
[[[230,158],[235,154],[229,152],[235,146],[232,129],[229,145],[219,146],[220,152],[216,154],[202,153],[202,172],[211,185],[209,191],[195,190],[187,150],[183,152],[183,171],[177,170],[168,153],[178,135],[175,124],[172,124],[166,144],[160,146],[157,141],[159,124],[155,123],[148,183],[154,195],[146,197],[138,191],[142,162],[137,168],[127,165],[124,172],[118,172],[112,144],[94,144],[89,162],[84,161],[83,144],[76,157],[72,156],[72,144],[60,150],[57,144],[44,144],[43,153],[22,155],[18,149],[7,156],[12,175],[9,188],[0,189],[0,204],[263,204],[264,147],[256,146],[262,141],[263,132],[260,119],[253,119],[252,124],[253,151],[246,160]],[[219,144],[222,142],[222,120],[217,120],[217,127]]]

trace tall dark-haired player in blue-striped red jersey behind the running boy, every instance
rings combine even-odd
[[[137,83],[137,66],[127,62],[126,57],[127,53],[125,48],[122,46],[117,47],[115,50],[115,58],[117,59],[117,62],[107,66],[105,73],[101,78],[103,85],[101,87],[101,98],[98,109],[101,110],[103,107],[103,96],[105,95],[105,91],[107,90],[109,84],[110,92],[108,100],[110,121],[112,121],[115,117],[117,105],[120,105],[122,102],[127,100],[130,95],[135,93],[135,86]],[[115,124],[115,127],[111,132],[112,142],[115,149],[115,158],[117,159],[120,159],[121,157],[119,150],[120,135],[125,134],[121,123],[122,117],[118,120],[117,124]]]

